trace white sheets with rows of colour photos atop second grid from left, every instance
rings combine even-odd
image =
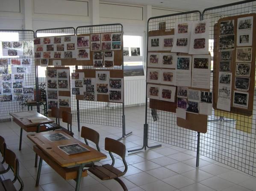
[[[34,39],[35,59],[76,58],[76,40],[77,37],[74,35],[37,37]]]

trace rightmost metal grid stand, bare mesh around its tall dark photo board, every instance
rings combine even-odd
[[[203,12],[203,19],[209,20],[210,23],[209,39],[211,41],[209,41],[209,46],[215,48],[213,42],[218,40],[217,37],[217,39],[214,38],[214,25],[219,19],[253,13],[255,12],[255,9],[253,9],[255,5],[256,1],[242,1],[222,7],[206,9]],[[221,118],[214,116],[214,110],[212,111],[212,116],[208,117],[208,131],[206,134],[201,135],[200,154],[256,176],[256,156],[254,154],[256,151],[255,94],[253,100],[252,117],[233,114],[238,119],[232,120],[230,118],[233,117],[229,117],[225,111],[221,111]],[[248,125],[243,123],[248,123]],[[248,132],[237,129],[237,125],[245,128]],[[251,131],[247,129],[248,126],[252,126]]]

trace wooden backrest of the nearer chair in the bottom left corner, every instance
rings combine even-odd
[[[9,165],[9,167],[12,169],[13,171],[13,174],[14,174],[14,180],[13,180],[13,183],[18,180],[21,184],[21,188],[19,189],[19,191],[22,191],[23,188],[24,188],[24,183],[23,181],[21,180],[21,177],[19,175],[19,168],[20,168],[20,165],[19,165],[19,160],[17,159],[16,157],[16,154],[7,149],[5,150],[5,161],[6,161],[6,164]]]

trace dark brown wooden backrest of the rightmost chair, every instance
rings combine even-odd
[[[118,154],[120,157],[122,157],[122,159],[125,158],[125,152],[126,152],[125,145],[118,140],[114,140],[109,137],[106,137],[105,150]]]

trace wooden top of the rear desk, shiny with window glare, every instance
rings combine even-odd
[[[31,116],[21,117],[21,116],[18,115],[18,114],[21,114],[21,113],[24,113],[24,112],[31,113]],[[9,113],[9,114],[13,117],[15,123],[20,125],[21,128],[34,127],[34,126],[37,126],[37,125],[44,125],[44,124],[47,124],[47,123],[53,123],[54,122],[54,120],[46,117],[47,121],[41,121],[41,122],[38,122],[38,123],[32,123],[27,118],[29,118],[29,117],[45,117],[44,115],[39,114],[36,111],[21,111],[21,112]]]

